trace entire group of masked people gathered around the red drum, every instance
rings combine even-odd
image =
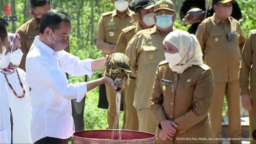
[[[67,75],[91,76],[116,52],[129,57],[132,69],[121,92],[123,129],[155,133],[157,143],[222,143],[199,138],[222,137],[225,96],[230,143],[241,143],[240,103],[249,111],[250,142],[256,143],[256,30],[244,36],[237,1],[185,0],[180,20],[191,24],[188,32],[175,27],[171,0],[113,2],[116,9],[99,18],[95,42],[104,57],[97,60],[69,53],[71,19],[50,0],[30,0],[33,18],[15,34],[0,19],[1,143],[68,143],[84,130],[86,92],[101,84],[106,128],[117,129],[113,80],[72,84]],[[189,19],[194,7],[205,11],[202,22]]]

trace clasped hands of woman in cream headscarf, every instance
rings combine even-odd
[[[175,122],[169,120],[162,120],[160,124],[164,133],[167,133],[170,137],[175,136],[175,133],[177,132],[176,128],[178,127]]]

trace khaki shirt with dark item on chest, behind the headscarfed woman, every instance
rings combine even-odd
[[[227,39],[227,33],[230,32],[231,41]],[[202,47],[204,62],[212,69],[214,82],[238,80],[241,51],[245,42],[240,23],[231,17],[222,22],[214,14],[199,24],[196,37]]]

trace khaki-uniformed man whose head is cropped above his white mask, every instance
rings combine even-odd
[[[132,25],[136,20],[134,12],[128,8],[129,0],[113,0],[113,2],[116,9],[101,15],[95,35],[97,48],[102,50],[104,55],[114,52],[117,38],[121,33],[121,30]],[[114,127],[117,113],[116,92],[106,85],[106,94],[109,103],[107,129],[117,129],[118,125],[117,127]],[[124,98],[122,100],[125,112],[125,100]],[[123,124],[125,124],[125,113]]]

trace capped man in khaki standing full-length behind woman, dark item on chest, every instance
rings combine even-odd
[[[214,15],[203,20],[196,31],[204,62],[214,75],[210,122],[214,137],[220,137],[224,95],[229,109],[229,137],[241,137],[238,72],[245,42],[240,22],[232,18],[233,0],[214,0]],[[220,142],[220,141],[219,141]],[[241,143],[241,141],[231,141]]]

